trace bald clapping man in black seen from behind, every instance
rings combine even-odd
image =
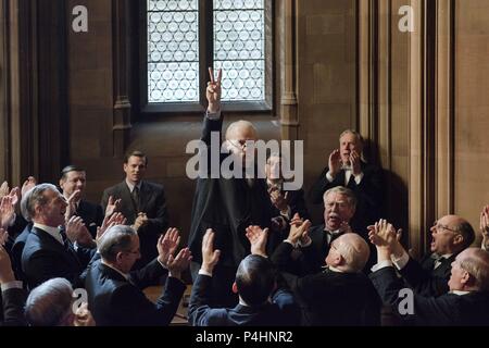
[[[302,307],[303,325],[378,325],[380,301],[368,277],[362,272],[368,260],[367,243],[354,233],[331,241],[324,260],[326,269],[316,274],[298,277],[288,273],[292,246],[308,235],[311,223],[292,225],[288,238],[272,254],[272,261]],[[264,232],[250,231],[253,245]],[[255,235],[255,236],[253,236]]]

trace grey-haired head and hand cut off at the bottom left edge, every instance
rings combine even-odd
[[[49,279],[27,297],[25,316],[32,326],[95,326],[87,303],[74,303],[73,288],[65,278]]]

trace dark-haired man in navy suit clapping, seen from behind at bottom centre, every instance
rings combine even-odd
[[[189,322],[193,326],[286,326],[299,324],[299,308],[287,289],[274,289],[276,271],[263,250],[252,247],[252,254],[239,264],[233,290],[239,294],[234,308],[211,308],[211,282],[220,261],[214,250],[214,232],[208,229],[202,241],[202,268],[192,287]]]

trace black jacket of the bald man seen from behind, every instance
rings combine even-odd
[[[272,261],[302,307],[303,325],[379,325],[380,300],[368,277],[363,273],[339,273],[326,270],[298,277],[285,269],[292,246],[283,243]]]

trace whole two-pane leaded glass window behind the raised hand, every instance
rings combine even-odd
[[[224,102],[264,102],[269,0],[204,1],[147,0],[148,103],[201,102],[208,66],[224,70]]]

